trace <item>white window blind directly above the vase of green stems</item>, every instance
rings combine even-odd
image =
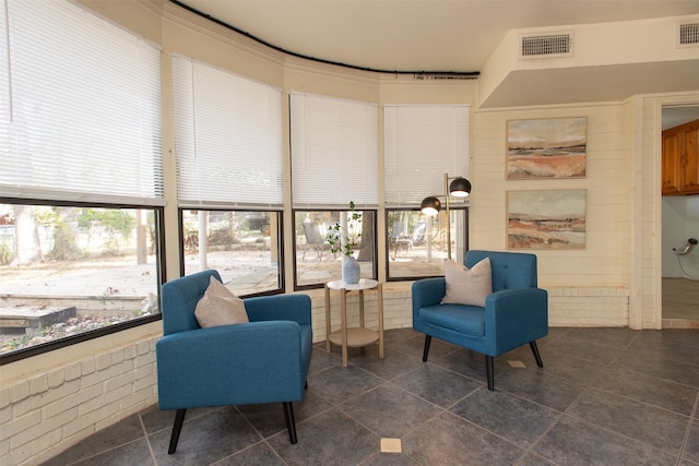
[[[377,106],[292,94],[294,207],[378,206]]]

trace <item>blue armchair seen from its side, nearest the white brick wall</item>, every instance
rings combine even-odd
[[[292,402],[300,402],[312,350],[306,295],[245,299],[249,323],[201,328],[197,303],[216,271],[163,285],[164,336],[155,344],[161,409],[176,409],[168,453],[175,453],[188,408],[281,402],[296,443]]]

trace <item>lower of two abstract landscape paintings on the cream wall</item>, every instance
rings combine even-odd
[[[584,249],[587,190],[508,191],[508,249]]]

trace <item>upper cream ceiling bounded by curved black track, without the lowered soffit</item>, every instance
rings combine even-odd
[[[699,0],[179,0],[284,50],[388,71],[481,71],[510,29],[699,13]]]

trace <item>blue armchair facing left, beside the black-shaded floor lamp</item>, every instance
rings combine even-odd
[[[485,308],[441,304],[445,277],[413,283],[413,328],[425,334],[423,361],[433,336],[485,355],[488,390],[495,389],[495,357],[529,343],[543,368],[536,338],[548,334],[548,294],[537,288],[536,255],[517,252],[469,251],[472,268],[490,259],[493,294]]]

